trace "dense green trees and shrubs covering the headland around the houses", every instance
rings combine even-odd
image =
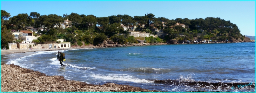
[[[64,20],[72,21],[72,27],[63,29],[61,23]],[[178,24],[184,24],[184,27]],[[144,24],[144,26],[142,26]],[[121,25],[127,27],[124,29]],[[18,14],[11,17],[10,13],[1,10],[1,47],[6,46],[7,42],[13,42],[13,35],[9,32],[18,32],[26,26],[42,27],[43,31],[36,43],[46,41],[56,41],[65,39],[72,45],[97,45],[109,38],[117,44],[138,43],[134,36],[129,36],[129,26],[136,26],[134,31],[145,32],[156,35],[154,29],[159,29],[165,33],[159,37],[144,37],[145,43],[165,43],[169,40],[186,41],[194,40],[244,40],[245,36],[240,33],[236,24],[229,20],[219,17],[207,18],[176,18],[168,19],[164,17],[155,17],[154,14],[145,14],[141,16],[129,15],[111,15],[107,17],[96,17],[94,15],[56,14],[40,15],[38,12],[28,14]],[[119,35],[122,34],[122,35]],[[36,35],[36,34],[33,34]]]

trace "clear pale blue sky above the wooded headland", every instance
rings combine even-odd
[[[1,1],[1,10],[16,16],[38,12],[41,15],[71,14],[107,17],[111,15],[206,18],[220,17],[236,24],[243,35],[255,36],[255,1]]]

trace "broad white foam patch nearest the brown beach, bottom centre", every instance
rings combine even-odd
[[[125,82],[135,82],[135,83],[153,83],[153,81],[148,81],[146,79],[139,79],[127,74],[108,74],[104,75],[90,75],[90,77],[106,80],[115,80],[115,81],[125,81]]]

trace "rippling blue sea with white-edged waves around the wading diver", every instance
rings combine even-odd
[[[165,92],[255,92],[255,43],[147,45],[2,54],[48,76]]]

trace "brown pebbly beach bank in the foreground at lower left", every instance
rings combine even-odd
[[[130,85],[103,85],[66,80],[63,76],[47,76],[39,71],[1,63],[1,92],[161,92]]]

